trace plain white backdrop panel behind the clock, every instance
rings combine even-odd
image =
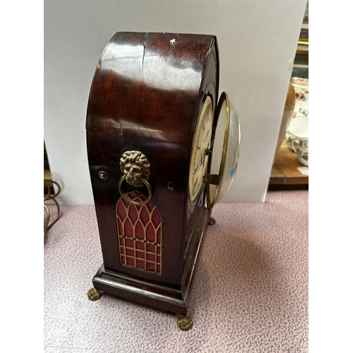
[[[220,92],[241,121],[223,201],[263,202],[306,0],[44,1],[44,140],[61,204],[93,203],[85,114],[95,66],[118,31],[217,36]]]

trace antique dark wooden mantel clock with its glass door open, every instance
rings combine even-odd
[[[86,121],[106,292],[178,314],[210,210],[232,184],[240,128],[214,35],[117,32],[98,62]],[[215,156],[220,156],[216,157]]]

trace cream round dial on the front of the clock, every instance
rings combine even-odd
[[[203,176],[207,172],[208,156],[210,155],[211,138],[213,126],[212,100],[208,96],[203,104],[198,126],[196,128],[195,140],[191,152],[191,163],[189,170],[189,196],[191,201],[196,199],[203,184]]]

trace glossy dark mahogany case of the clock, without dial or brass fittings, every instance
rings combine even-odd
[[[86,121],[103,256],[103,265],[93,278],[96,289],[186,313],[210,215],[204,207],[205,185],[196,200],[189,197],[191,149],[208,96],[215,115],[218,58],[213,35],[117,32],[104,49],[92,80]],[[119,161],[126,151],[142,152],[150,163],[149,202],[160,213],[162,229],[159,273],[157,267],[154,271],[133,268],[121,258],[117,204],[123,173]],[[145,186],[124,182],[124,190],[148,196]]]

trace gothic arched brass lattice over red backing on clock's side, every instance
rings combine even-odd
[[[128,196],[138,203],[146,199],[139,191],[131,191]],[[160,275],[162,220],[155,205],[151,201],[134,205],[119,198],[116,203],[116,226],[121,265]]]

